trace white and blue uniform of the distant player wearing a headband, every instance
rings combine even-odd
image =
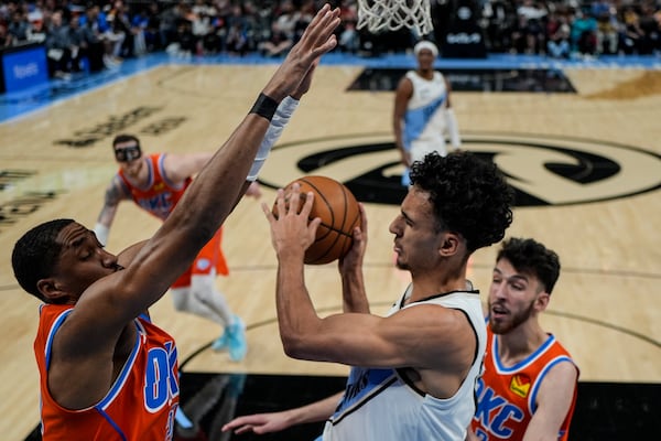
[[[445,155],[447,86],[443,74],[434,72],[432,79],[425,79],[415,71],[409,71],[407,78],[413,84],[413,95],[404,115],[404,148],[411,152],[413,161],[424,159],[431,151]]]

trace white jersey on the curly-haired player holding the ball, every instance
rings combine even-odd
[[[467,377],[447,399],[423,394],[398,369],[351,368],[345,395],[324,428],[324,441],[464,440],[475,415],[475,381],[480,374],[487,330],[479,291],[453,291],[404,304],[410,290],[390,311],[438,304],[466,313],[477,336],[477,352]]]

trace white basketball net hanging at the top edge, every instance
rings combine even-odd
[[[430,0],[358,0],[357,29],[372,33],[407,26],[426,35],[434,29]]]

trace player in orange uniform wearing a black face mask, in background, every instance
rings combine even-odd
[[[297,103],[296,97],[294,103]],[[289,120],[277,127],[278,136]],[[280,121],[280,120],[279,120]],[[267,136],[267,142],[275,142],[278,136]],[[121,201],[132,200],[139,207],[164,220],[193,176],[212,159],[213,152],[199,153],[142,153],[140,140],[132,135],[119,135],[112,140],[115,159],[119,171],[106,189],[104,207],[99,213],[94,232],[101,244],[108,243],[108,235],[117,208]],[[246,192],[259,197],[259,185],[253,182]],[[225,295],[216,289],[216,275],[227,276],[229,269],[221,248],[223,227],[202,249],[193,265],[172,284],[170,293],[177,311],[189,312],[213,320],[224,327],[223,334],[214,341],[216,351],[228,349],[230,359],[240,362],[247,352],[245,325],[232,313]]]

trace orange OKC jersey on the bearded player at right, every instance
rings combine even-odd
[[[514,366],[506,367],[498,356],[498,337],[489,326],[487,336],[485,372],[477,383],[478,402],[472,421],[473,432],[483,441],[522,440],[537,409],[537,394],[544,376],[557,363],[574,362],[570,353],[549,334],[549,338],[534,353]],[[576,388],[570,411],[557,433],[559,440],[568,439],[575,405]]]

